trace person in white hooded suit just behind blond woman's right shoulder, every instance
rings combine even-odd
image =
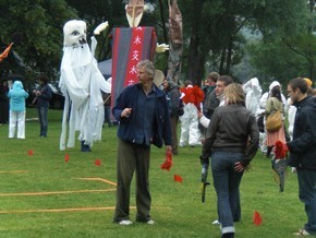
[[[263,90],[257,78],[253,78],[243,84],[243,90],[246,94],[246,108],[256,116],[259,112],[260,97]]]

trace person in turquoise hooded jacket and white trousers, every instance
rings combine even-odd
[[[9,138],[14,138],[17,124],[17,139],[25,139],[25,99],[28,93],[24,91],[21,81],[14,81],[8,97],[10,98]]]

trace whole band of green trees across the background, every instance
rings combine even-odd
[[[143,26],[154,26],[158,41],[167,44],[168,1],[145,1],[151,4],[151,11],[145,12],[141,21]],[[59,72],[62,27],[68,20],[87,22],[88,36],[98,24],[108,21],[109,28],[97,36],[96,56],[97,60],[108,59],[112,27],[129,27],[126,3],[127,0],[0,0],[0,43],[8,45],[14,33],[21,33],[23,40],[13,50],[28,72],[53,74]],[[183,17],[185,79],[199,84],[209,71],[233,75],[233,67],[245,58],[266,79],[315,74],[315,0],[178,0],[178,5]],[[245,28],[262,36],[248,48]],[[159,69],[165,70],[168,52],[156,56]]]

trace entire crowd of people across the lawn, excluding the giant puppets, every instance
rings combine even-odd
[[[307,215],[307,223],[295,235],[316,235],[316,97],[311,80],[291,80],[287,85],[287,99],[278,81],[263,94],[256,78],[239,84],[229,75],[211,72],[203,87],[191,81],[180,87],[169,80],[155,85],[154,76],[153,62],[139,61],[138,83],[125,87],[109,111],[119,124],[114,223],[133,223],[130,219],[130,194],[136,172],[136,222],[155,224],[150,216],[148,180],[151,144],[157,147],[165,144],[166,153],[173,155],[181,153],[183,146],[200,146],[200,160],[211,167],[221,237],[234,237],[234,223],[241,219],[243,174],[257,151],[271,158],[276,142],[281,142],[290,152],[289,166],[297,172],[299,197]],[[45,75],[37,80],[39,87],[34,94],[39,136],[46,138],[51,90]],[[25,139],[27,97],[21,81],[15,81],[12,88],[2,83],[1,111],[5,109],[4,105],[10,105],[10,109],[8,116],[1,112],[1,123],[9,122],[9,138],[15,136],[17,128],[16,136]],[[275,131],[259,131],[258,117],[264,116],[265,126],[267,118],[276,111],[283,117],[281,127]],[[177,134],[179,123],[180,139]]]

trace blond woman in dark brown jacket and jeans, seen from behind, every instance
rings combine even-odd
[[[211,117],[200,159],[208,163],[211,154],[221,237],[234,237],[239,187],[244,170],[258,150],[259,130],[255,116],[245,107],[240,84],[228,85],[223,95],[226,105],[218,107]]]

